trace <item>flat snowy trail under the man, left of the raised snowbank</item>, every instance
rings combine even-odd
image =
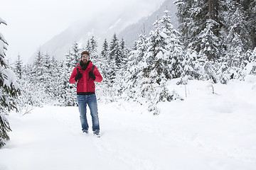
[[[83,166],[89,169],[253,169],[245,162],[206,152],[178,141],[170,133],[164,134],[164,130],[156,127],[161,118],[120,113],[117,108],[105,107],[100,107],[107,111],[100,116],[100,138],[80,132],[75,107],[36,108],[31,115],[11,118],[14,132],[12,140],[1,150],[5,157],[1,157],[0,168],[6,165],[10,170],[82,169]],[[19,121],[23,121],[22,126],[16,127],[21,125]]]

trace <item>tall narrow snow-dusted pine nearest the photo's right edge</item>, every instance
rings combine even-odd
[[[248,29],[247,11],[243,10],[241,3],[230,1],[228,5],[228,33],[225,39],[227,47],[227,60],[230,74],[234,79],[244,79],[246,52],[253,46]]]

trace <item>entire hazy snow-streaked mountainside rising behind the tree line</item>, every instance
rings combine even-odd
[[[159,1],[158,8],[145,15],[144,11],[134,11],[133,8],[127,8],[118,14],[99,11],[97,16],[90,16],[90,20],[80,21],[62,33],[55,35],[38,50],[48,52],[56,60],[63,60],[74,41],[78,42],[81,47],[85,47],[87,40],[92,38],[93,35],[98,42],[99,49],[101,49],[105,38],[110,42],[114,33],[117,33],[119,40],[124,38],[127,46],[132,47],[134,40],[137,40],[139,33],[142,33],[143,24],[145,23],[147,34],[150,30],[154,30],[153,23],[157,16],[164,15],[163,12],[166,10],[166,6],[170,11],[169,15],[174,19],[174,27],[177,27],[176,6],[173,2],[174,0]],[[29,60],[30,63],[33,62],[37,52]]]

